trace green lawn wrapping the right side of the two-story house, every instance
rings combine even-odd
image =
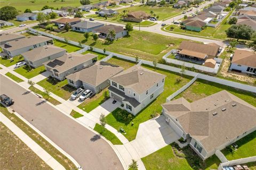
[[[154,70],[154,68],[149,66],[144,66],[148,69]],[[143,123],[151,118],[151,114],[161,114],[162,107],[161,104],[166,102],[167,96],[171,95],[175,91],[179,90],[183,85],[187,84],[189,80],[192,77],[183,76],[182,78],[179,76],[179,74],[176,74],[171,71],[158,69],[157,72],[166,75],[165,78],[165,85],[164,85],[164,92],[160,94],[153,102],[151,102],[147,107],[142,109],[137,116],[135,116],[132,121],[123,121],[117,119],[117,113],[119,109],[114,110],[107,116],[107,124],[110,126],[113,126],[117,130],[119,130],[119,127],[123,127],[126,131],[125,137],[132,141],[135,139],[139,124]],[[180,83],[176,83],[176,79],[181,78]],[[134,125],[131,125],[131,122],[134,123]]]

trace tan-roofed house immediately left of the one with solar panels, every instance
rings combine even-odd
[[[34,50],[22,53],[24,60],[31,67],[37,68],[43,66],[43,63],[49,60],[56,59],[62,55],[66,54],[66,49],[57,47],[54,45],[44,45]]]

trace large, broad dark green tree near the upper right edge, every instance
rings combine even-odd
[[[232,25],[225,30],[228,37],[239,39],[250,39],[254,32],[252,27],[246,25]]]

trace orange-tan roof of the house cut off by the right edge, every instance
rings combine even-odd
[[[236,50],[231,63],[256,68],[256,53],[253,51]]]

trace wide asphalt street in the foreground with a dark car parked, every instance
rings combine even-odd
[[[11,80],[0,75],[1,94],[15,103],[11,108],[72,156],[83,169],[123,169],[114,150],[92,131]]]

